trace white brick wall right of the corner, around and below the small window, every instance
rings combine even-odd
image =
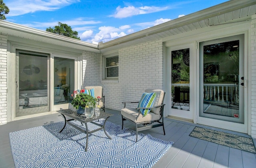
[[[123,101],[140,100],[147,88],[163,88],[162,40],[118,51],[118,83],[103,83],[106,107],[120,110]]]

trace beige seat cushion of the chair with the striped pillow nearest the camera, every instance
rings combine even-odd
[[[127,118],[135,123],[156,121],[156,120],[159,120],[161,117],[160,114],[154,114],[154,113],[150,112],[146,116],[142,116],[140,114],[140,116],[136,120],[136,117],[138,116],[139,112],[135,108],[122,108],[121,114],[122,114],[122,116],[124,116],[124,118]]]

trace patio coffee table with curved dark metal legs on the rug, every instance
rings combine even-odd
[[[57,112],[59,112],[63,117],[64,117],[64,120],[65,120],[65,124],[63,126],[63,128],[60,130],[60,132],[62,132],[64,130],[64,128],[66,127],[66,124],[69,124],[70,126],[80,130],[81,132],[85,133],[86,134],[86,148],[85,148],[85,151],[87,151],[87,148],[88,148],[88,135],[93,133],[93,132],[96,132],[98,130],[104,130],[106,136],[108,136],[108,138],[112,139],[106,132],[105,130],[105,124],[106,124],[106,121],[107,119],[110,117],[110,116],[113,116],[113,114],[109,114],[109,113],[106,113],[106,112],[100,112],[100,116],[96,117],[95,115],[92,117],[92,118],[86,118],[86,116],[84,114],[77,114],[76,113],[76,109],[60,109],[58,110]],[[66,118],[69,117],[70,119],[67,119]],[[104,124],[101,125],[101,124],[98,124],[96,122],[94,122],[95,120],[99,120],[101,118],[106,118],[105,121],[104,121]],[[76,121],[79,121],[81,123],[84,123],[85,124],[85,127],[86,127],[86,130],[83,130],[81,128],[79,128],[78,126],[75,126],[74,124],[72,124],[70,121],[72,120],[76,120]],[[88,130],[88,126],[87,126],[87,123],[90,122],[92,124],[95,124],[97,126],[100,126],[100,128],[97,128],[95,130]]]

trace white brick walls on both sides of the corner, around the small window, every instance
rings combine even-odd
[[[120,110],[123,101],[140,100],[146,88],[163,88],[162,40],[122,48],[118,55],[119,77],[116,82],[101,81],[100,54],[82,54],[82,86],[103,86],[106,108]]]

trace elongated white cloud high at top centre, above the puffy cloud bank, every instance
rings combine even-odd
[[[138,14],[149,14],[153,12],[159,12],[162,10],[167,10],[168,7],[156,7],[156,6],[141,6],[141,7],[134,7],[134,6],[127,6],[121,8],[118,6],[116,8],[116,12],[113,15],[114,18],[127,18],[130,16],[138,15]]]

